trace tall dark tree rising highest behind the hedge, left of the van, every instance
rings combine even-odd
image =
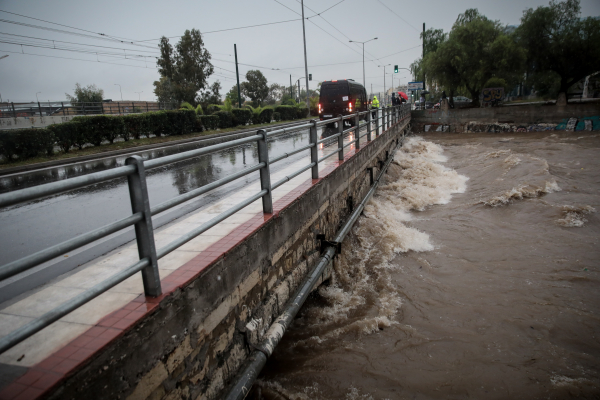
[[[154,94],[159,98],[160,93],[163,98],[196,104],[198,92],[205,88],[214,70],[200,31],[186,30],[175,49],[163,36],[158,47],[160,58],[156,64],[161,80],[154,82]]]

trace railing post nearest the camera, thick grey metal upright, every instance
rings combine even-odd
[[[162,294],[156,246],[154,244],[154,231],[152,227],[152,214],[150,213],[150,199],[146,186],[146,170],[144,160],[140,156],[132,156],[125,160],[127,165],[135,165],[137,171],[127,177],[129,183],[129,197],[133,213],[141,212],[143,218],[135,224],[135,237],[137,239],[140,260],[147,258],[150,265],[142,270],[144,293],[146,296],[157,297]]]

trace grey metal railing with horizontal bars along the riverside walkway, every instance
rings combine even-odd
[[[367,129],[366,133],[360,135],[361,126],[359,120],[361,117],[366,116]],[[258,199],[262,199],[263,212],[266,214],[273,213],[273,200],[272,191],[283,185],[285,182],[293,179],[300,175],[302,172],[310,169],[312,178],[319,178],[319,163],[331,155],[338,154],[339,160],[344,159],[344,148],[354,144],[356,149],[360,149],[361,139],[365,136],[367,141],[371,141],[372,132],[375,132],[375,136],[379,136],[380,133],[389,129],[393,124],[396,124],[403,119],[410,116],[410,109],[408,106],[396,106],[381,109],[381,116],[372,118],[371,111],[364,111],[355,113],[347,116],[340,116],[335,119],[329,119],[325,121],[312,120],[308,123],[300,123],[291,127],[285,127],[275,129],[267,132],[263,129],[259,130],[256,135],[232,140],[225,143],[216,144],[200,149],[190,150],[183,153],[173,154],[166,157],[156,158],[152,160],[144,161],[140,156],[129,157],[124,166],[113,168],[106,171],[95,172],[89,175],[79,176],[70,178],[62,181],[52,182],[44,185],[34,186],[14,192],[8,192],[0,194],[0,208],[9,207],[18,203],[23,203],[31,200],[40,199],[42,197],[63,193],[69,190],[82,188],[85,186],[97,184],[110,179],[127,177],[129,186],[129,195],[131,200],[132,214],[126,218],[108,224],[106,226],[97,228],[91,232],[87,232],[82,235],[78,235],[75,238],[69,239],[60,244],[41,250],[37,253],[30,254],[26,257],[13,261],[9,264],[0,267],[0,281],[15,276],[21,272],[24,272],[30,268],[33,268],[43,262],[49,261],[55,257],[61,256],[69,251],[78,249],[84,245],[90,244],[98,239],[101,239],[107,235],[110,235],[119,230],[134,226],[135,237],[138,247],[139,261],[135,264],[127,267],[120,273],[111,276],[110,278],[98,283],[91,289],[79,294],[73,299],[66,303],[56,307],[50,312],[42,315],[41,317],[34,319],[27,323],[21,328],[11,332],[7,336],[0,339],[0,353],[3,353],[12,346],[20,343],[29,336],[35,334],[46,326],[50,325],[54,321],[57,321],[61,317],[75,310],[79,306],[87,303],[93,298],[104,293],[113,286],[119,284],[130,276],[141,272],[142,280],[144,284],[144,293],[146,296],[156,297],[162,294],[160,276],[158,271],[158,260],[166,256],[170,252],[179,248],[183,244],[194,239],[198,235],[214,227],[219,222],[225,220],[236,212],[242,210],[248,205],[252,204]],[[355,125],[350,129],[344,130],[344,121],[354,118]],[[338,123],[338,133],[329,136],[325,139],[318,139],[317,128],[319,126],[330,124],[333,122]],[[299,131],[302,129],[309,130],[309,143],[291,153],[285,153],[273,160],[269,160],[269,152],[267,141],[269,138],[273,138],[278,135],[288,133],[290,131]],[[381,129],[381,131],[380,131]],[[349,132],[355,132],[354,140],[349,141],[344,145],[344,134]],[[318,158],[318,145],[327,140],[337,138],[337,149],[331,154],[326,155],[322,158]],[[229,149],[232,147],[240,146],[247,143],[257,143],[258,147],[258,164],[251,166],[243,171],[236,172],[224,178],[221,178],[212,183],[201,186],[190,192],[184,193],[170,200],[167,200],[161,204],[151,206],[148,197],[148,188],[146,182],[146,171],[188,160],[194,157],[199,157],[206,154],[211,154],[220,150]],[[271,183],[270,165],[281,161],[294,154],[302,151],[310,150],[310,163],[306,166],[298,169],[292,174],[279,180],[278,182]],[[223,186],[236,179],[244,177],[253,172],[259,171],[260,174],[260,185],[261,190],[254,195],[250,196],[241,203],[231,207],[229,210],[217,215],[210,221],[200,225],[191,232],[184,236],[179,237],[173,242],[165,245],[160,249],[156,249],[154,241],[154,230],[152,225],[152,216],[159,214],[165,210],[175,207],[183,202],[200,196],[206,192]]]

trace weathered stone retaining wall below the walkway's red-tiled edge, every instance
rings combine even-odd
[[[367,168],[378,173],[407,123],[313,182],[49,398],[218,398],[317,263],[317,235],[333,239],[370,188]]]

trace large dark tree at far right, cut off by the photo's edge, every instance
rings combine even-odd
[[[527,50],[532,80],[547,90],[552,76],[560,80],[559,100],[569,87],[600,70],[600,20],[580,18],[579,0],[551,1],[548,7],[527,9],[516,30]]]

